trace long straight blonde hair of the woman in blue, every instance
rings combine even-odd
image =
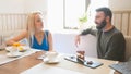
[[[33,44],[33,35],[35,33],[35,15],[37,15],[37,14],[41,15],[40,12],[31,13],[28,15],[27,22],[26,22],[26,25],[27,25],[26,29],[27,29],[27,34],[28,34],[27,38],[28,38],[29,46],[32,46],[32,44]]]

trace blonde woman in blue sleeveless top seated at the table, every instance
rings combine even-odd
[[[29,46],[34,49],[40,49],[45,51],[52,50],[52,36],[48,30],[43,30],[44,22],[43,14],[35,12],[27,17],[27,28],[19,36],[7,41],[7,45],[13,45],[24,38],[27,38]]]

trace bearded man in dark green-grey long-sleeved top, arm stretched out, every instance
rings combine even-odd
[[[97,55],[99,59],[123,61],[126,40],[120,30],[111,24],[112,13],[109,8],[96,9],[95,23],[97,29],[87,28],[75,38],[75,45],[80,44],[80,36],[94,35],[97,38]]]

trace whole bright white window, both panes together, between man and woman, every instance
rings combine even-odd
[[[78,28],[85,13],[85,0],[48,0],[49,28]]]

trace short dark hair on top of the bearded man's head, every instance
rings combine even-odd
[[[99,11],[104,12],[105,16],[109,16],[110,17],[110,22],[111,22],[112,12],[111,12],[111,10],[109,8],[104,7],[104,8],[96,9],[96,12],[99,12]]]

